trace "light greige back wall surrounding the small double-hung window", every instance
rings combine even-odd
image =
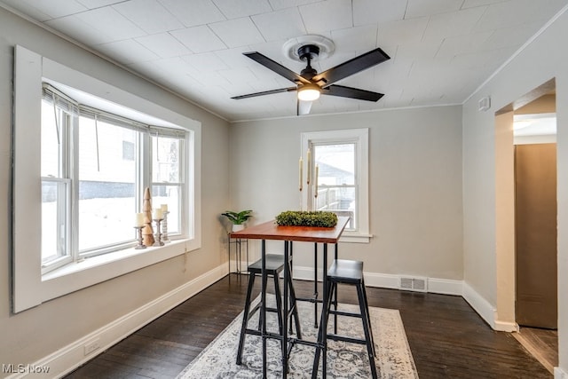
[[[233,123],[233,206],[254,209],[256,223],[299,209],[301,133],[349,128],[369,129],[374,237],[341,244],[340,254],[364,260],[366,272],[461,280],[459,106]],[[312,262],[312,254],[294,257]]]

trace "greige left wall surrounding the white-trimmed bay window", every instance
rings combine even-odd
[[[43,56],[167,107],[202,124],[202,248],[185,256],[11,313],[10,175],[13,46]],[[28,364],[118,320],[226,262],[217,215],[228,207],[229,125],[88,51],[0,8],[0,364]],[[39,138],[39,136],[38,136]],[[208,175],[206,173],[214,173]],[[34,231],[30,231],[34,233]],[[3,377],[4,373],[0,374]]]

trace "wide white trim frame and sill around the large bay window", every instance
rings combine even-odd
[[[185,179],[187,208],[193,217],[185,225],[189,236],[160,248],[125,249],[61,267],[42,276],[40,127],[42,82],[52,80],[106,99],[154,120],[179,125],[191,135],[186,141],[193,175]],[[201,122],[172,112],[89,75],[16,46],[14,51],[14,127],[12,174],[12,312],[21,312],[55,297],[154,265],[201,248]],[[154,123],[155,124],[155,123]],[[120,261],[120,263],[118,262]]]

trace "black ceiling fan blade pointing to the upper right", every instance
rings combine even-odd
[[[325,88],[328,85],[346,78],[347,76],[357,74],[359,71],[376,66],[388,59],[390,59],[390,57],[386,52],[384,52],[381,48],[376,48],[375,50],[368,51],[363,55],[359,55],[359,57],[355,57],[340,65],[331,67],[319,75],[315,75],[312,77],[312,82],[318,83],[319,81],[323,81],[324,83],[320,85]]]

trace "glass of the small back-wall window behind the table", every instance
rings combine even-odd
[[[355,144],[316,145],[314,151],[319,166],[316,209],[349,216],[347,229],[357,229]]]

